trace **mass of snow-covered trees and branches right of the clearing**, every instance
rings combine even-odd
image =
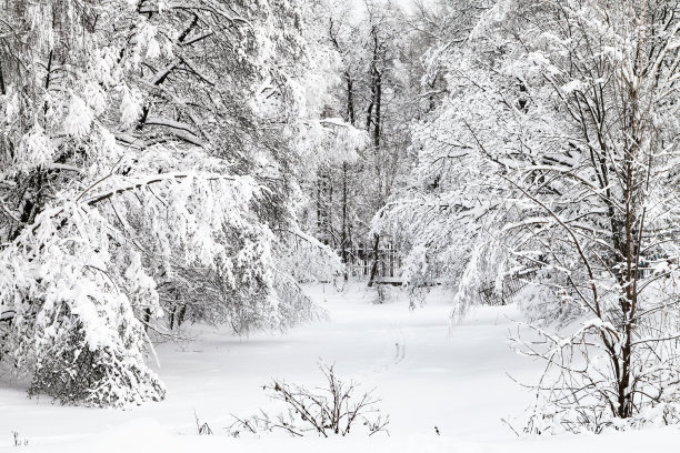
[[[547,365],[529,432],[679,421],[678,42],[674,2],[500,0],[429,54],[448,94],[377,228],[459,306],[516,284]]]

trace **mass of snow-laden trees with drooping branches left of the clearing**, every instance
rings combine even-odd
[[[0,359],[32,378],[30,393],[160,400],[148,333],[316,315],[298,278],[340,268],[309,238],[313,260],[296,255],[297,179],[364,139],[322,118],[338,57],[313,8],[3,4]]]

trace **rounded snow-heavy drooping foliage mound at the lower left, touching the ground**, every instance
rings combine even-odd
[[[12,315],[8,341],[32,374],[31,393],[94,405],[164,394],[144,365],[140,344],[149,339],[136,319],[142,309],[160,314],[156,284],[137,251],[116,256],[129,268],[113,273],[108,229],[97,211],[68,203],[43,211],[0,253],[0,306]],[[136,279],[129,292],[120,288],[134,281],[127,279]]]

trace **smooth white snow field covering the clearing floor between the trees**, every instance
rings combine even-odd
[[[26,396],[26,385],[0,378],[0,451],[8,452],[678,452],[680,431],[663,427],[604,435],[523,437],[501,419],[522,415],[531,395],[508,374],[531,382],[539,364],[508,348],[514,306],[481,308],[449,326],[443,293],[414,311],[404,296],[373,304],[364,284],[342,293],[310,289],[328,321],[284,334],[233,338],[196,326],[193,342],[158,346],[167,385],[161,403],[128,411],[61,406]],[[283,433],[233,439],[231,414],[273,403],[262,391],[272,378],[321,385],[319,361],[341,379],[376,389],[390,415],[389,436]],[[198,435],[194,414],[213,435]],[[434,431],[438,427],[441,435]],[[17,433],[14,436],[13,433]],[[16,446],[16,439],[22,445]],[[26,444],[26,445],[23,445]]]

